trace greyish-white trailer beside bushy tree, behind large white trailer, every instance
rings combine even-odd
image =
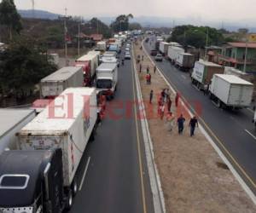
[[[41,99],[54,99],[69,87],[83,87],[83,78],[84,74],[81,67],[63,67],[41,79]]]

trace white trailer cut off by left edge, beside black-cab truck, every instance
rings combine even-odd
[[[31,109],[0,109],[0,117],[1,154],[5,149],[15,150],[18,148],[15,134],[36,117],[36,112]]]

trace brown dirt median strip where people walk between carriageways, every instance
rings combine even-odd
[[[168,88],[147,56],[134,45],[135,55],[143,55],[142,72],[137,72],[141,83],[143,101],[150,135],[154,146],[155,162],[160,172],[167,212],[256,212],[256,206],[241,188],[222,159],[214,151],[199,129],[189,136],[189,114],[183,107],[175,107],[175,94],[171,94],[172,112],[183,112],[186,118],[183,135],[178,135],[177,125],[168,130],[166,115],[158,115],[158,95]],[[147,85],[147,66],[152,83]],[[154,90],[152,105],[148,104],[150,90]]]

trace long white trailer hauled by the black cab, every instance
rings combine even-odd
[[[69,88],[52,103],[17,136],[22,150],[61,148],[64,186],[69,188],[96,131],[96,89]]]

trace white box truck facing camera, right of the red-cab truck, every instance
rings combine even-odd
[[[97,92],[113,99],[118,83],[118,67],[115,63],[102,63],[96,70]]]

